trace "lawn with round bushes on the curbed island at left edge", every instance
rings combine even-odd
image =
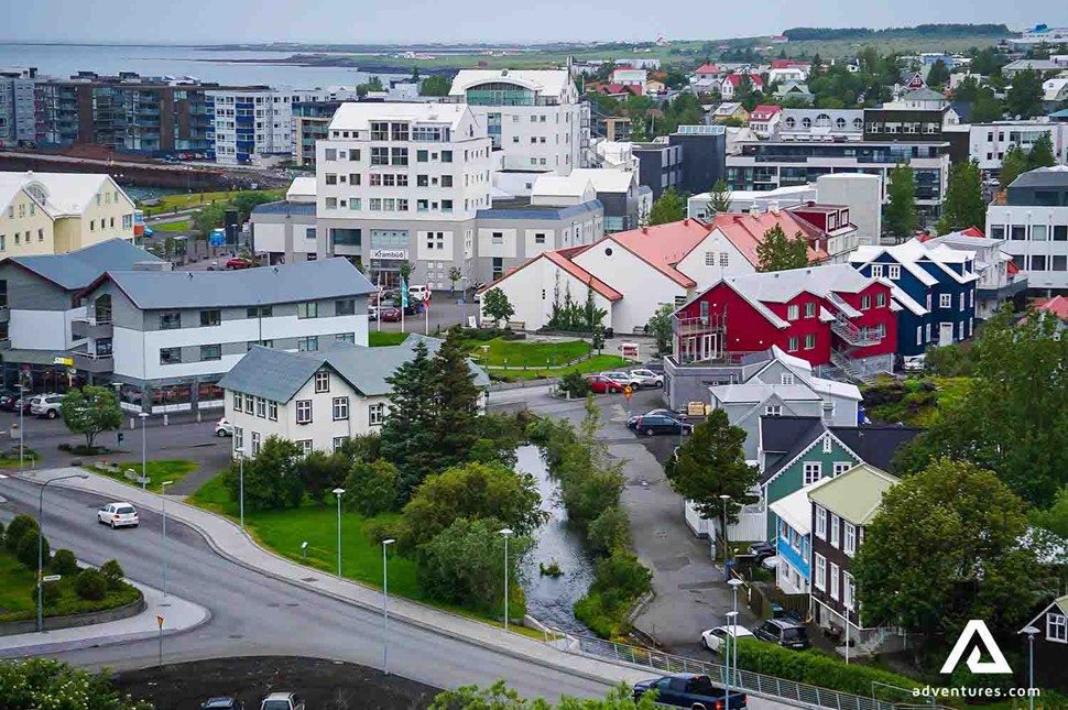
[[[47,529],[45,531],[47,537]],[[55,551],[55,550],[53,550]],[[45,568],[45,574],[48,569]],[[35,596],[37,570],[23,566],[14,555],[0,548],[0,622],[24,621],[36,616]],[[103,611],[129,604],[138,599],[140,592],[129,585],[120,590],[109,591],[100,601],[79,599],[74,591],[74,577],[64,577],[57,582],[59,599],[44,608],[45,616],[63,616],[90,611]]]

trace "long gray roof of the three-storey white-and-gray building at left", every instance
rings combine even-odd
[[[374,291],[371,282],[340,256],[239,271],[109,271],[106,277],[144,310],[299,303]]]

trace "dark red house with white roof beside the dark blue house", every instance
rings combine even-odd
[[[778,346],[863,379],[893,369],[891,285],[849,264],[727,276],[675,312],[679,363],[735,362]]]

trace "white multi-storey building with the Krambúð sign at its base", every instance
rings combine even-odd
[[[342,103],[316,144],[318,258],[361,261],[393,285],[447,284],[475,258],[475,218],[489,209],[491,143],[464,103]]]

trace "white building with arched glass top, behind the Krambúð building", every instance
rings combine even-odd
[[[449,100],[466,103],[484,127],[502,170],[565,175],[582,166],[589,143],[580,99],[567,69],[462,69],[449,90]]]

